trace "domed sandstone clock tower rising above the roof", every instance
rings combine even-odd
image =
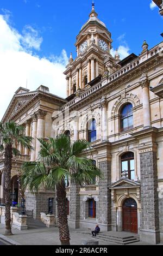
[[[118,69],[117,54],[111,56],[111,33],[105,24],[98,19],[95,3],[89,20],[83,25],[77,35],[77,58],[73,60],[72,53],[64,74],[67,80],[67,97],[85,90],[92,80],[103,78],[107,69],[112,74]]]

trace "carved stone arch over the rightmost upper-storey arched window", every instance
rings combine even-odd
[[[140,104],[140,99],[133,93],[122,94],[120,96],[120,98],[116,101],[116,103],[114,104],[112,111],[111,111],[111,116],[115,116],[115,115],[119,114],[122,106],[127,103],[131,103],[134,108],[135,106]]]

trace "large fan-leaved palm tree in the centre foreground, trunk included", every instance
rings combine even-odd
[[[58,135],[47,141],[39,139],[41,150],[37,162],[24,163],[22,166],[22,186],[30,192],[37,192],[40,187],[57,190],[59,237],[61,245],[70,245],[70,231],[66,212],[65,179],[85,186],[86,182],[95,184],[96,177],[102,177],[93,160],[86,158],[90,146],[85,140],[71,144],[67,135]]]

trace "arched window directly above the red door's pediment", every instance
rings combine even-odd
[[[129,180],[135,180],[135,164],[134,153],[128,152],[121,157],[122,176],[126,176]]]

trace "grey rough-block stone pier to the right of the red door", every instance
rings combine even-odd
[[[140,154],[141,168],[141,225],[142,241],[156,244],[160,242],[159,200],[156,152]]]

